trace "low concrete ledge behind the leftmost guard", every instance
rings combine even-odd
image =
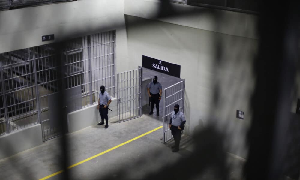
[[[97,123],[101,121],[97,105],[98,104],[94,104],[72,113],[68,113],[68,132],[72,133],[89,126],[97,125]],[[109,108],[113,110],[113,112],[110,110],[108,111],[109,122],[117,121],[117,98],[112,98]]]

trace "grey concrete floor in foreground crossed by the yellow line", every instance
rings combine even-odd
[[[134,137],[161,126],[161,121],[143,115],[122,123],[104,126],[91,126],[67,134],[70,162],[75,164]],[[124,146],[98,156],[69,170],[70,179],[144,179],[155,174],[163,166],[170,165],[180,158],[188,157],[193,151],[193,140],[182,136],[180,151],[173,153],[173,140],[161,143],[162,129],[147,134]],[[0,160],[0,179],[40,179],[61,170],[60,138],[46,141],[43,145]],[[2,148],[2,147],[1,147]],[[228,156],[229,164],[234,163],[231,179],[241,179],[241,161]],[[201,162],[199,162],[201,163]],[[59,179],[62,174],[50,179]],[[211,179],[214,172],[208,170],[195,179]],[[158,178],[159,179],[159,178]],[[214,179],[214,178],[213,178]]]

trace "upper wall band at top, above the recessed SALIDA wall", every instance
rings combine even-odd
[[[155,19],[181,26],[219,32],[227,35],[257,39],[257,16],[248,13],[238,13],[228,10],[211,10],[211,8],[189,6],[171,3],[172,8],[180,14],[174,17],[155,18],[160,11],[161,0],[125,0],[124,13],[126,15]],[[220,19],[216,24],[215,15]],[[216,26],[217,25],[217,26]]]

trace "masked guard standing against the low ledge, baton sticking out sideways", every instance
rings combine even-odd
[[[101,93],[99,93],[98,99],[98,110],[101,116],[101,122],[98,125],[104,125],[105,119],[105,129],[108,128],[108,105],[112,102],[110,95],[105,91],[105,87],[102,85],[100,87]]]

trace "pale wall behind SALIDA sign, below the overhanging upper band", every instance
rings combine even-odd
[[[181,65],[181,78],[185,79],[185,133],[193,135],[214,124],[228,134],[230,152],[245,157],[243,143],[251,120],[250,97],[255,81],[252,64],[258,40],[134,16],[125,19],[128,64],[141,66],[142,55],[146,55]],[[145,25],[136,27],[136,21]],[[221,47],[219,57],[217,45]],[[214,93],[218,101],[214,101]],[[244,120],[235,117],[236,110],[245,112]],[[233,142],[238,142],[238,148]]]

